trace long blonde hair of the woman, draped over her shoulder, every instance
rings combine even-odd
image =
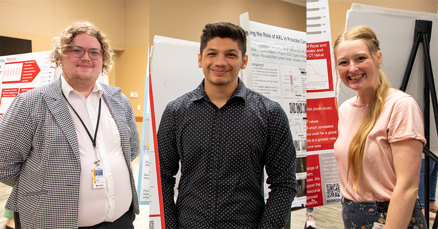
[[[370,53],[373,57],[376,57],[377,52],[380,51],[380,43],[377,40],[376,33],[372,29],[366,26],[357,26],[348,29],[344,33],[338,36],[333,45],[333,54],[336,60],[336,52],[339,44],[343,40],[358,40],[362,39],[368,46]],[[350,145],[348,146],[348,172],[347,182],[350,168],[353,171],[353,191],[357,191],[357,185],[359,183],[359,177],[361,176],[361,164],[364,158],[365,142],[369,133],[373,129],[380,115],[382,114],[384,101],[386,94],[388,93],[388,81],[380,66],[378,69],[378,77],[380,84],[374,90],[373,99],[368,105],[364,120],[360,124],[359,128],[351,138]]]

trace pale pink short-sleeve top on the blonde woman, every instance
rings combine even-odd
[[[421,111],[410,95],[389,88],[382,115],[366,139],[361,176],[359,177],[357,193],[355,193],[351,169],[347,182],[347,152],[351,138],[368,109],[368,106],[357,105],[356,100],[357,96],[347,100],[339,107],[339,136],[334,144],[334,155],[338,166],[341,193],[343,197],[357,202],[388,201],[397,181],[392,158],[392,155],[397,152],[391,151],[389,143],[418,139],[424,145],[426,139],[424,138]]]

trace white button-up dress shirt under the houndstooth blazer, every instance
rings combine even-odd
[[[103,175],[106,177],[106,187],[93,189],[92,169],[97,168],[94,164],[96,156],[91,139],[72,106],[94,138],[102,88],[95,83],[91,94],[85,98],[74,90],[63,76],[61,76],[61,84],[62,92],[70,103],[68,107],[76,130],[81,157],[78,226],[88,227],[104,221],[113,222],[129,210],[132,201],[129,169],[123,154],[119,130],[107,104],[102,99],[96,147],[97,157],[100,159],[99,167],[105,167]]]

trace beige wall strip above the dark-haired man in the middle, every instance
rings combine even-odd
[[[207,23],[239,23],[249,12],[250,20],[306,31],[306,8],[279,0],[150,0],[149,38],[154,35],[199,42]]]

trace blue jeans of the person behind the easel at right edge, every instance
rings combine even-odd
[[[437,192],[438,164],[432,159],[429,160],[429,203],[435,202]],[[424,208],[424,159],[421,159],[420,185],[418,186],[418,196],[421,207]]]

